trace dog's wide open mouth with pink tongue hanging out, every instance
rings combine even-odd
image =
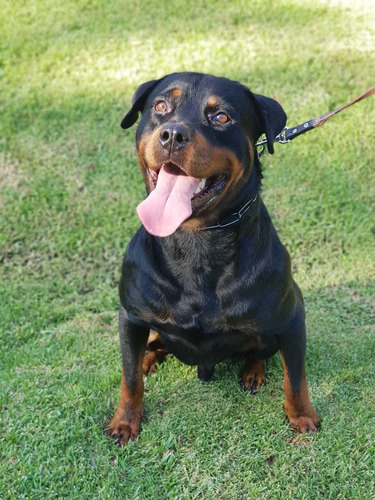
[[[153,190],[137,208],[146,230],[154,236],[169,236],[193,213],[212,204],[229,180],[226,171],[204,179],[187,175],[172,162],[148,169]]]

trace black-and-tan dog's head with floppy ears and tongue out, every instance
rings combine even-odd
[[[142,84],[121,126],[131,127],[139,112],[138,160],[149,196],[138,214],[156,236],[216,220],[248,181],[259,136],[266,134],[273,153],[286,123],[273,99],[200,73]]]

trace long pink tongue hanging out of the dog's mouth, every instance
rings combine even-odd
[[[137,207],[146,230],[154,236],[169,236],[190,217],[191,198],[201,179],[176,175],[163,165],[156,188]]]

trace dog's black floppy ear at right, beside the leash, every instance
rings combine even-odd
[[[272,155],[275,137],[285,127],[286,114],[281,105],[274,99],[259,94],[253,94],[253,96],[262,124],[261,134],[266,134],[268,152]]]

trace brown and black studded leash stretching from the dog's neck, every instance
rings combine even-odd
[[[349,106],[352,106],[356,102],[361,101],[362,99],[366,99],[366,97],[370,97],[370,95],[375,93],[375,85],[368,89],[366,92],[361,94],[360,96],[356,97],[352,101],[350,101],[348,104],[345,104],[344,106],[341,106],[340,108],[335,109],[334,111],[330,111],[329,113],[325,113],[324,115],[318,116],[316,118],[312,118],[311,120],[308,120],[307,122],[301,123],[301,125],[297,125],[296,127],[285,127],[276,137],[275,137],[275,142],[278,142],[279,144],[287,144],[288,142],[292,141],[299,135],[305,134],[306,132],[309,132],[313,128],[318,128],[321,125],[324,125],[327,120],[332,118],[332,116],[337,115],[337,113],[340,113],[344,109],[349,108]],[[261,148],[258,151],[258,157],[260,158],[265,152],[266,152],[266,144],[267,144],[267,138],[264,137],[260,141],[258,141],[255,146],[257,148]]]

